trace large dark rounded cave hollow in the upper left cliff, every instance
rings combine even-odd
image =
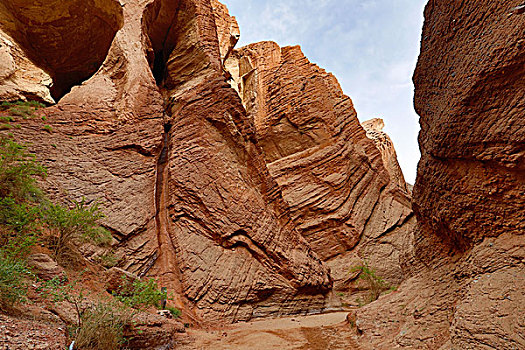
[[[53,80],[49,90],[58,102],[102,66],[123,25],[123,10],[116,0],[104,5],[71,0],[56,2],[56,16],[43,17],[48,11],[46,2],[3,0],[0,15],[8,20],[0,23],[0,28],[49,74]]]

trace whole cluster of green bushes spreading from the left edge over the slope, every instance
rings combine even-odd
[[[35,178],[46,170],[25,146],[0,136],[0,307],[24,300],[30,271],[25,258],[43,237],[50,238],[55,256],[73,239],[109,244],[111,235],[96,221],[98,203],[83,200],[70,210],[45,198]],[[45,232],[45,234],[44,234]],[[57,281],[53,281],[57,283]]]

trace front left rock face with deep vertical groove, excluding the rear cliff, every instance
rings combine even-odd
[[[114,7],[93,4],[101,16]],[[121,14],[111,17],[121,17],[120,29],[98,71],[44,110],[45,122],[21,120],[22,131],[13,131],[48,168],[48,192],[61,201],[99,199],[119,267],[156,277],[196,322],[324,309],[328,269],[291,223],[253,123],[226,81],[210,2],[117,5]],[[58,31],[75,33],[51,4],[41,6]],[[49,31],[47,22],[31,23],[35,33]],[[89,38],[107,37],[97,32],[103,26],[80,27]],[[40,58],[28,56],[59,62],[48,54],[62,34],[42,38],[50,49]],[[27,51],[24,40],[17,37]]]

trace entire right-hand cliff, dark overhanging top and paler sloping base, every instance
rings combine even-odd
[[[525,17],[432,0],[414,75],[416,265],[360,310],[373,349],[525,348]]]

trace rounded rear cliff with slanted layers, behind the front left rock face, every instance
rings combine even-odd
[[[294,224],[328,261],[336,288],[363,259],[401,282],[400,252],[414,220],[392,143],[382,156],[335,77],[299,47],[252,44],[226,68]]]

